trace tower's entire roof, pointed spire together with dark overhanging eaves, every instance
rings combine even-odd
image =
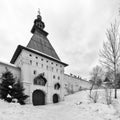
[[[49,58],[53,61],[59,62],[63,64],[64,66],[68,66],[68,64],[62,62],[60,58],[58,57],[56,51],[54,50],[51,43],[47,39],[48,33],[43,30],[44,28],[45,28],[45,24],[44,22],[42,22],[42,17],[39,14],[37,15],[37,19],[34,20],[34,25],[31,30],[31,32],[33,33],[31,40],[29,41],[27,47],[18,45],[10,61],[12,64],[15,63],[21,51],[25,49],[35,54]]]

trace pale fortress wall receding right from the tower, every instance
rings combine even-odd
[[[72,92],[80,91],[81,89],[90,89],[91,84],[83,79],[64,74],[64,95],[68,95],[68,89]]]

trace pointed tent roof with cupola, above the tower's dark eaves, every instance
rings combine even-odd
[[[60,60],[56,51],[54,50],[51,43],[47,39],[48,33],[43,30],[44,28],[45,24],[42,21],[42,17],[40,16],[40,14],[38,14],[37,19],[34,20],[34,25],[31,30],[33,36],[29,41],[27,47]]]

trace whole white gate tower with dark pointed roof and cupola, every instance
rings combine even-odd
[[[39,14],[34,20],[33,34],[27,47],[18,45],[11,63],[21,68],[21,80],[28,103],[43,105],[63,100],[64,67],[56,51],[49,42],[45,24]]]

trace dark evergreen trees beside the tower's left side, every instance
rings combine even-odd
[[[8,70],[2,74],[1,80],[0,98],[7,102],[12,102],[16,99],[18,103],[22,105],[25,104],[25,100],[28,96],[24,94],[22,83],[17,81]]]

